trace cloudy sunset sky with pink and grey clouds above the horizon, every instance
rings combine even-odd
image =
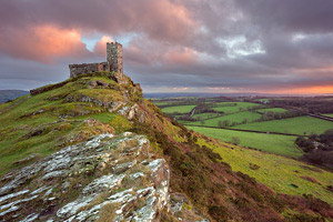
[[[332,0],[1,0],[0,90],[105,61],[144,92],[333,93]]]

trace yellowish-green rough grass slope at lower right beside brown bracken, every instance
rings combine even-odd
[[[200,140],[198,143],[209,145],[203,140]],[[326,190],[327,185],[332,185],[332,172],[320,170],[289,158],[231,144],[210,148],[220,153],[222,161],[229,163],[233,171],[241,171],[253,176],[275,192],[291,195],[312,194],[333,205],[333,193]],[[252,170],[250,163],[258,164],[260,168]],[[314,179],[316,182],[304,180],[301,176]],[[291,184],[295,184],[299,188],[294,188]]]

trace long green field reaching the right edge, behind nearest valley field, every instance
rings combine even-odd
[[[242,125],[235,125],[233,129],[256,130],[262,132],[282,132],[293,134],[321,134],[329,129],[333,129],[333,122],[325,120],[299,117],[284,120],[272,120],[264,122],[254,122]]]

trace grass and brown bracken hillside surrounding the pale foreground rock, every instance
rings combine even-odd
[[[331,201],[333,196],[329,190],[332,181],[331,172],[297,161],[289,162],[290,159],[221,143],[194,133],[167,117],[153,103],[144,100],[139,84],[127,77],[125,80],[125,83],[119,83],[114,73],[89,73],[46,85],[34,90],[33,95],[24,95],[1,104],[0,188],[8,185],[10,173],[18,172],[12,170],[43,160],[43,157],[51,159],[51,153],[64,148],[70,150],[70,145],[80,142],[94,145],[92,140],[94,135],[104,133],[120,135],[131,131],[149,139],[149,152],[153,158],[167,161],[170,169],[168,171],[170,192],[186,200],[186,205],[182,208],[182,215],[200,212],[211,221],[333,219],[333,209],[330,205],[333,204]],[[189,109],[186,107],[176,110]],[[119,144],[119,147],[125,145],[125,143]],[[138,145],[130,144],[130,148],[132,147]],[[112,150],[112,144],[107,149]],[[82,152],[87,150],[83,149]],[[125,154],[118,153],[118,155]],[[62,158],[65,160],[75,157],[63,155]],[[97,176],[103,175],[91,167],[93,164],[90,160],[84,161],[87,163],[84,162],[83,169],[79,170],[88,173],[82,173],[78,178],[74,174],[69,175],[72,181],[70,184],[72,192],[64,196],[58,190],[59,196],[52,200],[50,211],[47,213],[43,211],[44,216],[56,214],[59,209],[78,199],[81,191],[84,191],[84,185],[93,183]],[[133,160],[129,158],[128,161]],[[140,162],[144,164],[142,160]],[[249,170],[249,165],[255,170]],[[105,172],[108,171],[115,170],[105,169]],[[269,174],[270,171],[273,172],[272,175]],[[299,178],[309,175],[320,184],[312,184],[314,182],[310,184],[311,179],[297,180],[297,172],[293,175],[293,171],[300,172]],[[315,174],[313,171],[321,171],[321,173]],[[285,182],[282,183],[284,179]],[[54,180],[43,179],[43,181],[47,181],[43,183],[48,185],[57,183],[58,188],[67,185],[61,176]],[[24,185],[32,186],[41,181],[36,182],[32,178],[28,182],[31,184]],[[125,184],[125,188],[135,185],[129,180],[121,183]],[[281,188],[274,184],[281,184]],[[18,183],[18,185],[22,184]],[[10,194],[16,192],[19,190],[13,189]],[[102,193],[97,201],[104,200],[105,196],[108,195]],[[31,209],[23,212],[28,216],[30,211],[48,204],[49,202],[46,203],[43,199],[37,199],[33,200]],[[139,201],[138,204],[142,203]],[[191,211],[192,208],[195,209]],[[114,208],[110,205],[109,211],[113,212]],[[2,212],[1,209],[0,213]],[[14,216],[14,211],[11,214]],[[159,216],[162,221],[176,221],[179,215],[173,215],[165,209],[159,212]]]

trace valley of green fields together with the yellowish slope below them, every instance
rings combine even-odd
[[[303,109],[302,105],[285,108],[280,104],[283,99],[164,98],[152,101],[189,130],[223,144],[214,145],[213,150],[234,171],[255,178],[275,192],[310,193],[333,204],[329,191],[332,170],[320,170],[300,161],[305,152],[295,143],[297,138],[311,138],[333,129],[333,122],[309,115],[306,104],[317,99],[306,99]],[[276,100],[279,105],[275,105]],[[285,99],[286,102],[290,100]],[[293,98],[295,100],[304,99]],[[326,101],[325,98],[324,103]],[[188,108],[186,113],[178,110],[182,107]],[[323,104],[323,109],[326,110],[327,105]],[[319,110],[314,113],[333,115]],[[198,143],[204,144],[203,141]]]

